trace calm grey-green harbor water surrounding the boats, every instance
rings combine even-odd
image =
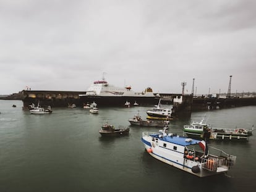
[[[15,104],[17,107],[12,107]],[[53,108],[53,114],[22,111],[22,101],[0,100],[0,191],[255,191],[256,131],[249,141],[211,141],[210,145],[237,156],[226,175],[198,178],[151,157],[142,144],[143,131],[130,126],[153,106]],[[170,107],[171,106],[164,106]],[[256,106],[193,112],[173,120],[169,133],[182,135],[183,125],[205,116],[213,127],[252,128]],[[130,128],[128,136],[103,138],[98,132],[108,120]]]

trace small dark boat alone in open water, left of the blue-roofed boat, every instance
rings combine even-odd
[[[118,128],[115,128],[113,125],[110,125],[108,122],[105,122],[101,125],[99,133],[101,136],[118,136],[118,135],[128,135],[129,128],[119,125]]]

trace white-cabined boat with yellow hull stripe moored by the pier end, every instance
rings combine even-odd
[[[170,120],[171,109],[161,107],[161,99],[159,99],[158,105],[153,109],[147,111],[147,119],[156,120]]]

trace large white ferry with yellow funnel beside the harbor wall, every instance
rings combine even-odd
[[[130,86],[118,88],[109,85],[108,81],[94,81],[85,94],[79,95],[83,103],[96,102],[98,106],[124,106],[126,101],[140,105],[156,104],[160,96],[155,96],[151,88],[146,88],[142,93],[135,93]]]

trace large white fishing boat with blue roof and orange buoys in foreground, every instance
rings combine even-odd
[[[150,156],[198,177],[228,172],[236,164],[236,156],[194,140],[167,134],[166,125],[159,133],[143,132],[142,142]]]

